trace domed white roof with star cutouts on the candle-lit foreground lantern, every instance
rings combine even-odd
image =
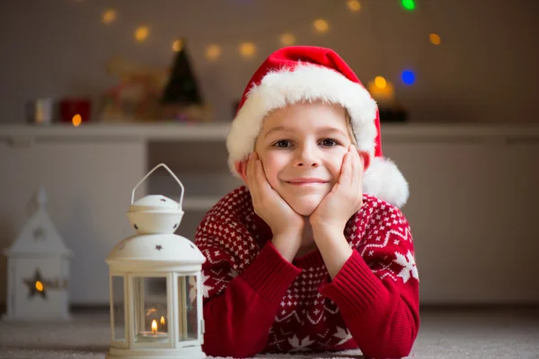
[[[192,241],[173,233],[136,234],[120,241],[106,262],[141,266],[199,266],[206,261]]]

